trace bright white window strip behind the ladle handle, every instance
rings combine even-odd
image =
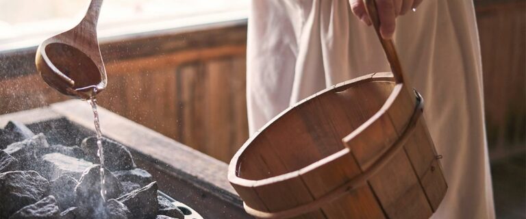
[[[0,51],[34,47],[74,27],[89,0],[0,0]],[[249,0],[105,0],[99,38],[247,18]]]

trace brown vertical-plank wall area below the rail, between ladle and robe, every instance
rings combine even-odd
[[[241,62],[243,57],[226,57],[110,75],[118,82],[108,86],[99,103],[228,162],[248,136],[245,79],[236,77],[245,73]],[[113,96],[122,93],[124,107]]]

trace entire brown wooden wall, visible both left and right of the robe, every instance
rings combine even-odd
[[[488,141],[502,157],[524,151],[525,1],[475,0],[475,7]],[[248,137],[246,34],[238,21],[102,42],[110,81],[99,103],[229,162]],[[34,74],[35,49],[0,53],[0,114],[66,99]]]

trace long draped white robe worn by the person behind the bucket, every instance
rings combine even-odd
[[[441,159],[448,191],[432,218],[494,218],[482,68],[471,0],[424,0],[395,44]],[[253,0],[247,48],[251,133],[327,86],[390,71],[373,27],[347,0]]]

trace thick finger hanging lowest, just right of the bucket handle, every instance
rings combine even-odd
[[[392,38],[395,33],[395,5],[392,0],[376,0],[380,18],[380,34],[384,39]]]

